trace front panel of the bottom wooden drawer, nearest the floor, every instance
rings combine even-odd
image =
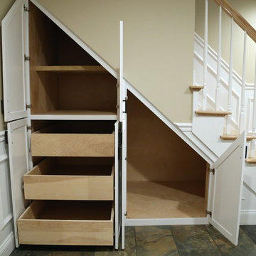
[[[113,245],[112,221],[18,220],[18,240],[28,245]]]

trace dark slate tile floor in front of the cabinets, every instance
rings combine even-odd
[[[127,227],[125,250],[21,246],[11,256],[256,256],[256,225],[241,226],[238,246],[211,225]]]

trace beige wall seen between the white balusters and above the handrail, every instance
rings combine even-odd
[[[218,49],[218,5],[213,0],[209,0],[209,45],[217,51]],[[256,1],[255,0],[228,0],[228,2],[244,16],[250,24],[256,28]],[[205,0],[196,0],[196,32],[203,38],[204,8]],[[234,70],[242,75],[242,55],[243,55],[243,32],[235,24],[234,30]],[[223,58],[229,61],[230,50],[230,18],[223,14]],[[247,82],[254,82],[255,77],[255,43],[247,40]]]

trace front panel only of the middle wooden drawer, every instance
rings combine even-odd
[[[23,177],[26,199],[114,200],[114,177],[49,176]]]

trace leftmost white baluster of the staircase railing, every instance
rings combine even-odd
[[[203,100],[202,110],[206,110],[207,103],[207,64],[208,64],[208,0],[206,0],[206,11],[205,11],[205,30],[204,30],[204,48],[203,48]]]

